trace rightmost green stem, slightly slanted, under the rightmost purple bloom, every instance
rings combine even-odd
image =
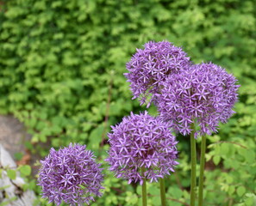
[[[198,191],[198,206],[203,206],[203,172],[204,172],[204,163],[205,163],[205,144],[206,144],[206,136],[202,136],[201,159],[200,159],[200,176],[199,176],[199,191]]]

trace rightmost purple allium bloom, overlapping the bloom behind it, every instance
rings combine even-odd
[[[183,135],[190,133],[193,122],[199,125],[200,135],[211,134],[234,113],[239,88],[235,82],[234,76],[211,63],[169,76],[157,95],[160,117]]]

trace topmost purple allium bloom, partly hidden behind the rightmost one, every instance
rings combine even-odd
[[[130,82],[133,99],[139,98],[141,105],[159,93],[159,85],[167,76],[178,73],[190,65],[187,54],[168,41],[150,41],[144,47],[143,50],[137,49],[127,64],[129,73],[124,74]],[[150,102],[151,100],[147,106]]]

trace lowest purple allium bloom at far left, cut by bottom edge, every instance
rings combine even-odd
[[[51,148],[50,154],[41,161],[38,181],[42,197],[48,198],[49,203],[84,205],[94,201],[94,196],[102,195],[103,169],[95,162],[93,153],[85,148],[72,143],[59,151]]]

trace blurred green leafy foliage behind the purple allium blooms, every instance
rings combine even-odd
[[[212,61],[239,79],[237,112],[208,137],[206,205],[253,205],[256,140],[256,19],[253,0],[8,0],[0,2],[0,113],[12,113],[41,155],[69,142],[103,161],[109,125],[139,112],[122,75],[149,40],[183,46],[195,63]],[[150,108],[156,114],[155,108]],[[178,136],[180,165],[167,182],[170,205],[189,203],[189,139]],[[221,142],[222,141],[222,142]],[[103,142],[103,143],[101,143]],[[200,142],[200,139],[198,140]],[[199,146],[200,144],[198,144]],[[198,147],[199,150],[199,147]],[[105,166],[105,163],[104,167]],[[139,205],[140,186],[107,173],[96,205]],[[149,205],[159,205],[157,184]],[[38,191],[38,188],[34,188]],[[39,199],[41,204],[44,204]]]

